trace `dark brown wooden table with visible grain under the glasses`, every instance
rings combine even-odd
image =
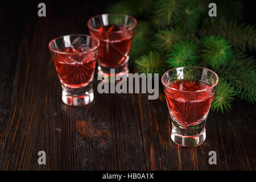
[[[99,94],[71,107],[48,50],[57,36],[88,34],[86,20],[104,3],[47,3],[1,9],[0,169],[1,170],[255,170],[255,105],[236,100],[230,113],[210,111],[207,139],[199,147],[179,147],[170,138],[166,101],[146,94]],[[11,16],[11,12],[16,12]],[[160,95],[160,98],[161,97]],[[47,164],[38,164],[46,151]],[[208,163],[209,151],[217,164]]]

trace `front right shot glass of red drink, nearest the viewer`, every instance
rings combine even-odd
[[[172,119],[171,139],[184,147],[202,144],[218,76],[207,68],[180,67],[164,73],[162,84]]]

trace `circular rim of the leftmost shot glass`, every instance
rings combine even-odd
[[[89,49],[88,51],[84,51],[84,52],[73,52],[73,53],[61,52],[61,51],[57,51],[57,50],[53,49],[53,48],[51,47],[51,43],[52,43],[53,41],[57,40],[57,39],[63,38],[64,36],[84,36],[84,37],[90,37],[90,38],[92,38],[92,39],[94,39],[94,40],[97,41],[97,46],[95,46],[95,47]],[[100,46],[100,41],[99,41],[97,38],[95,38],[94,36],[85,35],[85,34],[61,35],[61,36],[58,36],[58,37],[52,39],[52,40],[48,43],[48,47],[49,47],[50,51],[56,52],[56,53],[61,53],[61,54],[64,54],[64,55],[79,55],[79,54],[87,53],[87,52],[90,52],[90,51],[94,51],[94,50],[97,49],[99,46]]]

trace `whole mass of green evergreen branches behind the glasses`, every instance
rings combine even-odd
[[[216,0],[218,18],[208,16],[210,0],[121,0],[110,5],[108,13],[137,16],[129,64],[138,73],[163,73],[168,66],[215,68],[220,81],[211,109],[224,113],[234,96],[256,102],[256,62],[241,52],[255,51],[256,28],[237,22],[242,19],[242,1],[227,1]],[[200,51],[189,40],[199,42]]]

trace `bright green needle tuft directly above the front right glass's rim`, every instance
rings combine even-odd
[[[168,56],[166,63],[171,68],[184,67],[188,65],[195,65],[197,61],[197,46],[193,42],[176,43],[171,49],[171,53]]]

